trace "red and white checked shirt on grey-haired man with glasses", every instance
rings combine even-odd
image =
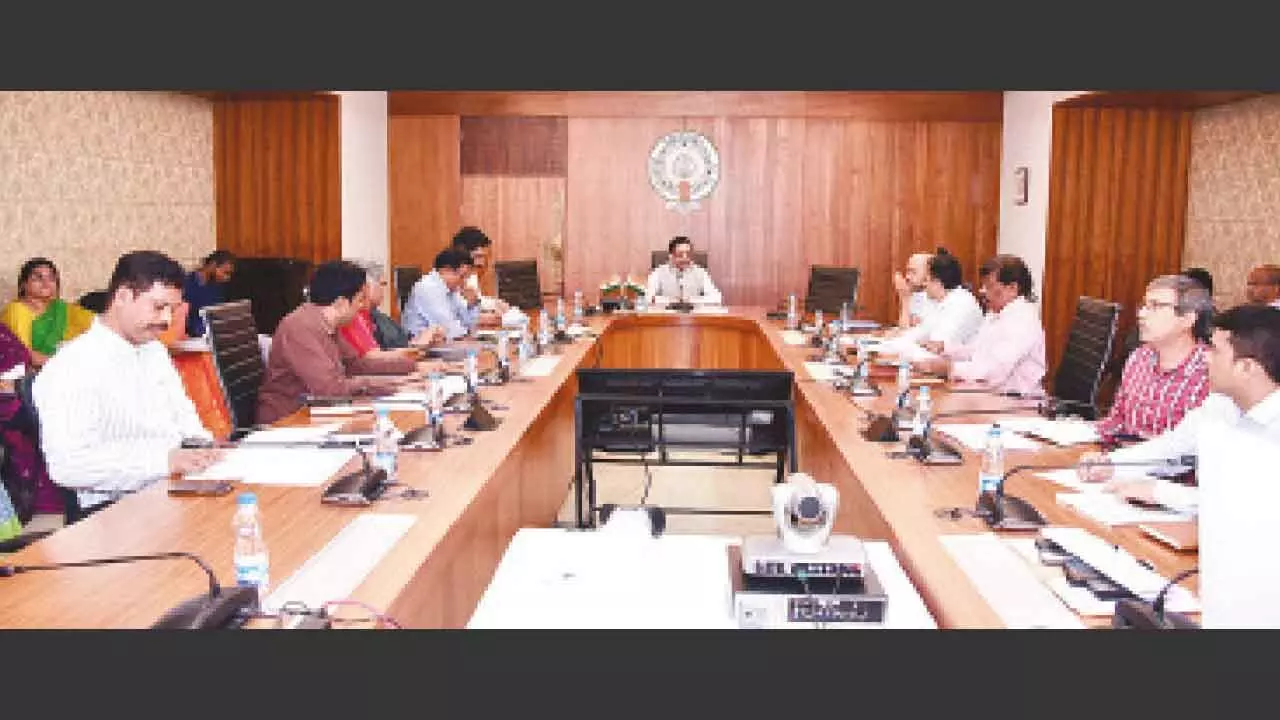
[[[1124,364],[1111,413],[1098,421],[1103,442],[1117,434],[1156,437],[1176,425],[1208,395],[1207,346],[1196,343],[1178,366],[1160,369],[1160,355],[1143,345]]]

